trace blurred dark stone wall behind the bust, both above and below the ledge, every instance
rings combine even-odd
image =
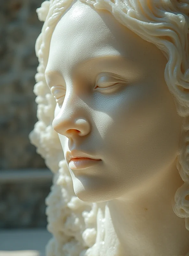
[[[34,45],[42,22],[43,0],[0,0],[0,228],[45,227],[45,197],[51,182],[1,184],[1,173],[44,168],[30,144],[37,121]]]

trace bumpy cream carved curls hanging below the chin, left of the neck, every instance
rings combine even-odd
[[[59,163],[46,204],[48,230],[54,235],[47,246],[47,256],[85,255],[96,238],[95,204],[85,203],[75,196],[65,160]]]

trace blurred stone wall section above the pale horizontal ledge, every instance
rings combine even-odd
[[[43,0],[0,0],[0,169],[44,167],[30,144],[36,118],[34,45]]]

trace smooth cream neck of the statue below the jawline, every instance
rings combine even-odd
[[[97,216],[95,253],[91,255],[186,255],[189,231],[185,219],[172,209],[182,184],[174,163],[144,186],[103,203]]]

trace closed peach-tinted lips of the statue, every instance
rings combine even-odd
[[[94,156],[78,150],[67,151],[66,160],[69,163],[70,169],[72,170],[87,169],[102,161],[99,158],[95,158]]]

